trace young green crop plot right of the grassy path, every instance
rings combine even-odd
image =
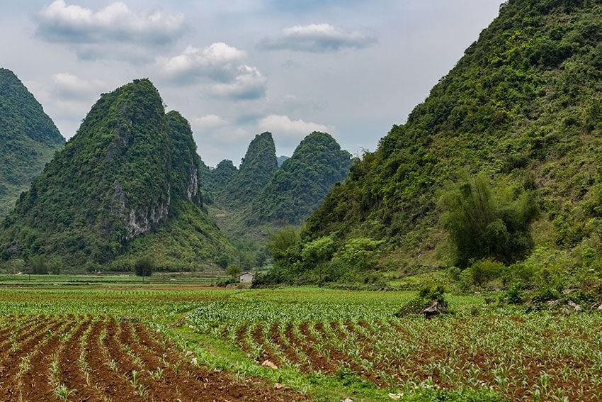
[[[335,308],[338,307],[338,308]],[[597,400],[602,318],[518,311],[397,318],[386,301],[342,306],[206,302],[186,321],[258,363],[359,376],[380,387],[492,389],[508,398]]]

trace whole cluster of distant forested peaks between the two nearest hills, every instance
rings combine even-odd
[[[240,169],[223,160],[200,165],[201,188],[210,215],[232,239],[244,270],[268,262],[266,228],[300,225],[336,182],[348,174],[351,155],[326,133],[311,133],[293,157],[276,167],[271,133],[256,135]]]

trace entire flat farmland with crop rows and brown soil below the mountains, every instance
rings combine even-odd
[[[426,320],[396,316],[411,291],[79,279],[0,278],[0,399],[35,400],[35,388],[50,400],[186,401],[201,387],[222,401],[602,398],[599,313],[447,295],[453,313]]]

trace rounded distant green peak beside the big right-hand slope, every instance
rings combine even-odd
[[[243,213],[246,225],[300,225],[343,182],[351,154],[329,134],[305,137]]]

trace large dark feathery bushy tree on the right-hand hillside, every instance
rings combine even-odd
[[[452,263],[492,258],[512,264],[533,248],[529,225],[538,213],[533,191],[508,186],[492,191],[484,175],[467,177],[439,200]]]

